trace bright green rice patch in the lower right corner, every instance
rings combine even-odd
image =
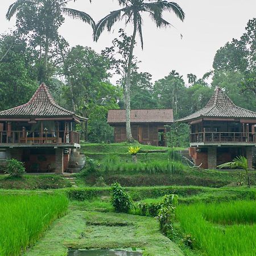
[[[255,201],[179,205],[176,218],[205,254],[249,256],[256,255],[255,209]]]

